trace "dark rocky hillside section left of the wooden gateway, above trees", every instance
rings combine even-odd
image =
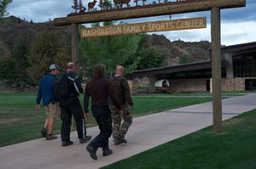
[[[66,45],[70,34],[69,26],[56,27],[52,21],[44,23],[32,23],[20,20],[15,16],[2,19],[0,22],[0,59],[9,57],[17,42],[26,41],[29,44],[37,39],[43,31],[51,31],[55,34],[61,45]]]

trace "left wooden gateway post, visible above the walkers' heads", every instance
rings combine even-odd
[[[77,65],[79,62],[79,27],[76,24],[71,25],[71,46],[72,61]]]

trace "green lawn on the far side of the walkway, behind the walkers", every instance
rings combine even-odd
[[[40,138],[44,125],[45,109],[35,110],[35,93],[0,93],[0,147]],[[134,116],[147,115],[161,110],[171,110],[190,104],[211,101],[211,98],[160,98],[134,97]],[[91,118],[87,127],[95,126]],[[73,127],[73,129],[75,129]],[[61,120],[56,119],[54,133],[61,132]]]

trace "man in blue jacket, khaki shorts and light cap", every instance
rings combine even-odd
[[[57,102],[55,93],[54,93],[54,80],[55,75],[59,73],[58,65],[52,64],[49,65],[49,74],[44,76],[41,79],[39,89],[38,89],[38,97],[36,109],[40,109],[40,102],[43,99],[44,107],[46,108],[47,117],[44,122],[44,128],[41,131],[41,134],[47,140],[57,138],[52,134],[53,127],[55,123],[55,117],[60,115],[59,103]]]

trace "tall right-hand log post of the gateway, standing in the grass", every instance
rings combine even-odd
[[[212,122],[215,132],[222,130],[220,9],[211,10],[212,31]]]

